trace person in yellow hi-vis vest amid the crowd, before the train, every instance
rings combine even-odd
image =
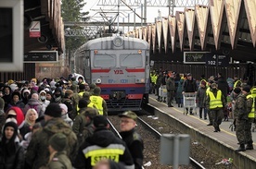
[[[90,96],[90,100],[92,103],[96,105],[96,109],[99,115],[108,115],[108,107],[105,100],[100,96],[100,88],[96,87],[92,96]]]

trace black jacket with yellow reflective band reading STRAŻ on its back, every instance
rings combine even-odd
[[[106,151],[109,153],[106,154]],[[85,140],[73,166],[77,169],[91,169],[102,158],[122,162],[126,168],[134,168],[133,158],[126,144],[107,128],[96,129],[94,135]]]

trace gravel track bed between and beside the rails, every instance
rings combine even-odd
[[[171,134],[180,134],[181,132],[175,130],[171,125],[161,122],[159,119],[153,119],[147,115],[140,116],[144,121],[146,121],[151,127],[154,127],[160,133],[171,133]],[[119,121],[118,116],[109,116],[109,120],[113,123],[115,127],[119,130]],[[151,136],[151,133],[147,131],[144,127],[138,126],[136,130],[141,135],[144,140],[144,163],[150,162],[150,166],[144,166],[152,169],[165,169],[172,168],[170,165],[160,164],[160,139],[156,139]],[[221,162],[224,157],[213,153],[212,151],[207,150],[203,147],[197,140],[191,139],[190,145],[190,156],[196,161],[201,162],[201,164],[207,169],[224,169],[224,168],[233,168],[237,169],[233,164],[225,165],[224,163],[215,164]],[[180,168],[193,168],[191,165],[183,165]]]

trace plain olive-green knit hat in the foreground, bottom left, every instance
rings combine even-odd
[[[52,148],[55,151],[64,151],[67,147],[67,137],[62,133],[56,133],[49,139],[49,145],[52,146]]]

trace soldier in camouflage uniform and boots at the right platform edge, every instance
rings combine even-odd
[[[234,116],[236,119],[236,135],[237,140],[240,144],[240,147],[236,151],[246,151],[245,144],[247,143],[246,139],[246,127],[249,126],[249,114],[251,112],[252,108],[252,101],[253,99],[251,97],[247,98],[247,96],[250,93],[250,87],[244,86],[242,88],[242,93],[237,96],[237,101],[235,103],[235,110],[234,110]],[[251,127],[251,123],[250,123]],[[251,139],[251,133],[250,133],[250,143],[248,150],[251,150],[252,147],[252,139]],[[252,147],[253,149],[253,147]]]

